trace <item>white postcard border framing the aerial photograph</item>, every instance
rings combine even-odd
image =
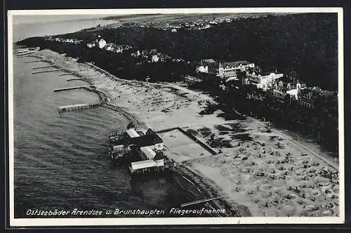
[[[338,13],[338,128],[339,217],[213,217],[213,218],[15,218],[13,148],[13,15],[130,15],[155,13]],[[11,227],[102,226],[102,225],[234,225],[234,224],[337,224],[345,222],[343,8],[143,8],[8,11],[8,179]]]

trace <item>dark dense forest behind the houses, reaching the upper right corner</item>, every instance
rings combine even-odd
[[[91,41],[99,34],[107,43],[140,50],[157,48],[174,58],[255,62],[263,69],[291,69],[310,86],[338,88],[338,19],[336,13],[267,15],[223,22],[205,30],[173,33],[153,27],[87,29],[62,35]]]

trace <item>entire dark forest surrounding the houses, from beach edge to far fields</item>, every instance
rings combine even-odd
[[[85,29],[60,36],[82,39],[82,44],[48,41],[44,37],[25,39],[19,44],[66,53],[79,58],[79,62],[94,62],[122,79],[145,80],[150,77],[152,81],[179,81],[187,74],[194,74],[194,65],[204,58],[249,60],[265,70],[276,67],[284,73],[293,69],[307,86],[320,86],[333,93],[319,96],[314,109],[309,109],[291,98],[279,102],[270,91],[263,92],[251,86],[228,86],[222,91],[216,79],[204,79],[194,88],[211,93],[217,99],[218,107],[230,116],[234,115],[233,109],[237,109],[244,114],[265,118],[284,128],[310,135],[326,149],[337,152],[337,31],[336,14],[310,13],[246,18],[206,30],[178,30],[176,33],[152,27]],[[131,51],[113,53],[87,48],[86,42],[95,40],[98,35],[107,43],[128,44],[134,50],[157,48],[157,51],[185,61],[140,62],[139,58],[131,56]]]

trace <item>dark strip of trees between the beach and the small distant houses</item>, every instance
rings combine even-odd
[[[73,44],[60,41],[49,41],[44,37],[32,37],[18,42],[25,46],[50,49],[58,53],[65,53],[79,62],[93,62],[98,67],[106,69],[121,79],[135,79],[145,81],[180,81],[186,74],[192,74],[195,67],[187,62],[166,60],[165,62],[147,62],[141,58],[131,56],[130,51],[114,53],[100,48],[88,48],[86,44]]]

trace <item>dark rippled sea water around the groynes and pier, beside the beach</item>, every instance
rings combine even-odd
[[[33,67],[48,65],[26,63],[32,60],[37,58],[13,57],[15,218],[33,218],[27,211],[36,208],[168,210],[202,198],[182,189],[173,175],[132,178],[128,168],[114,166],[107,134],[126,128],[127,119],[105,108],[59,114],[59,106],[97,102],[98,96],[84,89],[54,93],[88,84],[67,81],[74,76],[62,72],[32,74]]]

